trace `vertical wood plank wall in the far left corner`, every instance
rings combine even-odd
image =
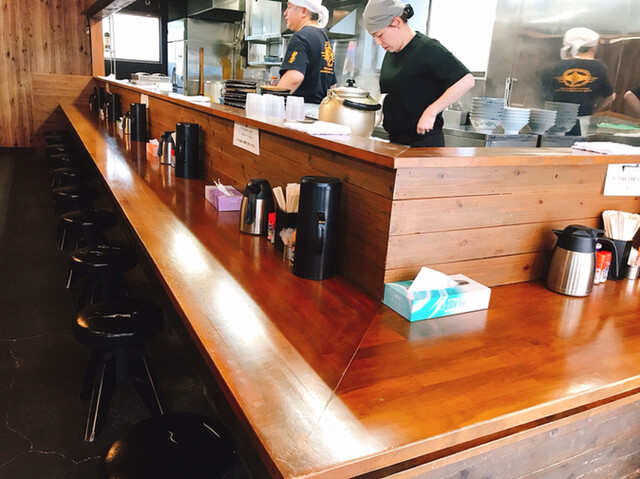
[[[90,40],[80,12],[90,3],[0,0],[0,147],[35,146],[45,112],[42,104],[34,105],[42,99],[33,97],[34,76],[51,75],[46,81],[50,98],[69,98],[69,75],[83,75],[80,84],[88,81]],[[77,86],[75,79],[71,84]]]

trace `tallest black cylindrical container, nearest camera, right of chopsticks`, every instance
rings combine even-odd
[[[336,272],[340,190],[338,178],[303,176],[296,228],[293,274],[327,279]]]

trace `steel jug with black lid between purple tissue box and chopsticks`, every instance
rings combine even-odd
[[[244,188],[240,204],[240,231],[266,235],[269,213],[273,212],[271,185],[264,178],[252,178]]]

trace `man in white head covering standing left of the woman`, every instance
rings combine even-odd
[[[305,103],[319,105],[337,83],[333,50],[323,30],[329,11],[321,0],[289,0],[284,17],[295,33],[280,67],[278,86],[304,97]]]

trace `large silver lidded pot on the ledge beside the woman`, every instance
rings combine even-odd
[[[382,105],[368,91],[355,87],[353,79],[346,87],[332,88],[320,103],[318,120],[339,123],[351,127],[351,134],[371,136],[382,121]]]

